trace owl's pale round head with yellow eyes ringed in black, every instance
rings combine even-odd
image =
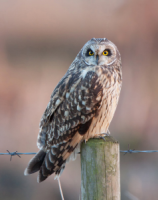
[[[92,38],[82,48],[80,58],[87,65],[111,65],[120,60],[117,47],[106,38]]]

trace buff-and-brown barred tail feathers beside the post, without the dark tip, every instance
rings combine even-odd
[[[76,133],[68,141],[63,141],[63,143],[52,146],[40,167],[37,182],[44,181],[53,173],[56,175],[55,178],[60,177],[65,168],[65,164],[76,157],[78,151],[76,147],[79,145],[82,138],[83,136]]]

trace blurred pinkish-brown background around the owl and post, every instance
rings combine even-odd
[[[122,55],[123,87],[111,134],[120,148],[158,149],[158,1],[0,1],[0,152],[37,152],[40,118],[58,81],[92,37]],[[24,177],[32,156],[0,156],[0,200],[60,200],[54,175]],[[61,176],[79,199],[80,158]],[[121,199],[157,200],[158,153],[121,154]]]

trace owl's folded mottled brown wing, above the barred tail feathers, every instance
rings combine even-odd
[[[97,74],[90,71],[84,79],[80,75],[78,72],[66,76],[53,92],[40,123],[40,148],[46,146],[48,149],[67,140],[77,130],[84,134],[83,126],[87,127],[86,122],[100,107],[103,88]]]

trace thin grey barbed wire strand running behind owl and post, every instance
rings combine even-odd
[[[10,152],[9,150],[7,150],[8,153],[0,153],[0,155],[10,155],[10,161],[12,160],[13,156],[18,156],[19,158],[21,158],[20,155],[35,155],[36,152],[28,152],[28,153],[20,153],[18,151],[13,151]],[[120,150],[121,153],[124,153],[124,155],[126,154],[131,154],[131,153],[158,153],[158,150],[135,150],[135,149],[128,149],[128,150]]]

